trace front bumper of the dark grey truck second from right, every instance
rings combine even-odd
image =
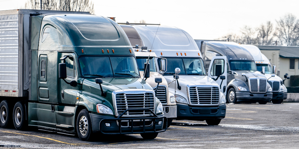
[[[269,101],[272,99],[272,92],[267,93],[250,93],[244,91],[236,91],[237,101],[244,100],[264,100]]]

